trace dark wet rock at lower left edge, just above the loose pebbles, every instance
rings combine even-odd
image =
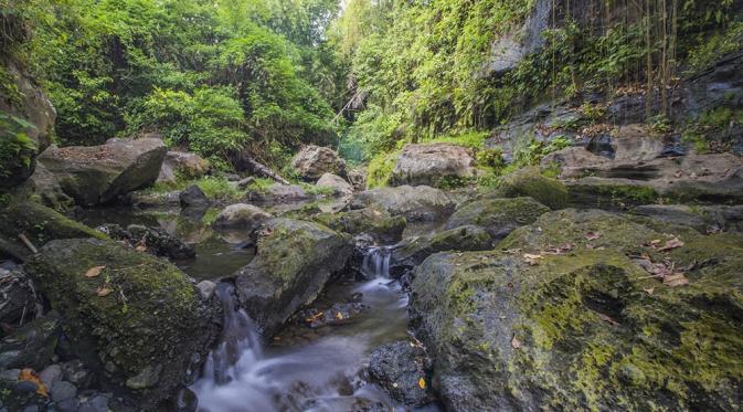
[[[0,370],[43,369],[51,363],[60,331],[60,319],[45,316],[8,335],[0,340]]]

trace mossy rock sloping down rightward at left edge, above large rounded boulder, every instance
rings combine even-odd
[[[55,239],[96,237],[106,235],[30,200],[12,200],[0,209],[0,256],[20,261],[31,256],[31,251],[20,241],[23,234],[36,247]]]

